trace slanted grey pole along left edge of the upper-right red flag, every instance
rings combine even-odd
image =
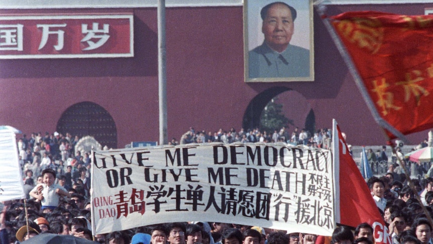
[[[346,48],[344,47],[342,41],[340,40],[338,34],[334,30],[334,27],[331,25],[329,18],[324,14],[324,7],[321,2],[320,3],[314,3],[314,7],[316,7],[316,10],[319,12],[319,15],[323,21],[323,24],[327,28],[328,32],[331,35],[331,38],[333,39],[334,43],[337,46],[337,49],[339,50],[340,54],[343,57],[343,60],[345,61],[346,65],[348,66],[349,72],[352,74],[352,77],[355,80],[355,84],[357,85],[359,91],[361,92],[362,97],[364,98],[364,101],[367,104],[367,107],[369,108],[371,114],[373,115],[374,120],[381,126],[382,128],[387,129],[389,132],[394,134],[396,137],[400,138],[404,141],[404,143],[408,143],[407,138],[397,129],[395,129],[392,125],[390,125],[387,121],[385,121],[377,111],[373,101],[370,98],[370,95],[368,94],[367,88],[364,86],[362,82],[362,78],[357,72],[357,69],[355,67],[355,64],[347,52]]]

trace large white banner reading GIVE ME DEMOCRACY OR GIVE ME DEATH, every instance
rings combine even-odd
[[[94,151],[93,234],[214,221],[331,235],[331,151],[210,143]]]

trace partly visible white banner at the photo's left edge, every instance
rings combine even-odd
[[[0,128],[0,202],[26,198],[15,132]]]

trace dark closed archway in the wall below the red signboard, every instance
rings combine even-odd
[[[57,131],[79,137],[90,135],[102,146],[117,148],[117,128],[113,117],[92,102],[81,102],[67,108],[57,122]]]

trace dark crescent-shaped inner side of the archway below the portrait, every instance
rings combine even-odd
[[[286,87],[273,87],[261,92],[253,98],[245,111],[242,127],[244,129],[260,127],[260,116],[262,115],[262,111],[266,104],[268,104],[268,102],[278,94],[290,90],[291,89]]]

